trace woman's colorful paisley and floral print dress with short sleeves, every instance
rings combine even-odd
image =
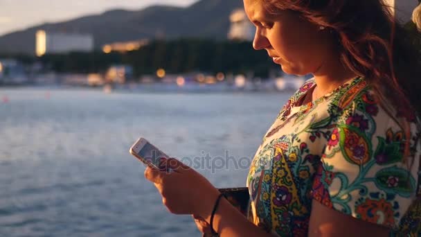
[[[252,221],[278,236],[307,236],[317,200],[418,236],[421,149],[415,116],[389,116],[363,78],[298,105],[314,86],[314,79],[307,80],[287,101],[256,152],[247,177]],[[411,137],[400,120],[408,122]],[[406,139],[411,154],[403,161]]]

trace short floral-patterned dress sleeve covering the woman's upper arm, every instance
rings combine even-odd
[[[354,218],[397,229],[415,200],[419,148],[412,149],[416,159],[402,162],[406,137],[400,125],[377,105],[357,107],[329,128],[312,198]]]

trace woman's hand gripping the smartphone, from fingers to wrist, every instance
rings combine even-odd
[[[153,182],[171,213],[193,214],[207,220],[220,192],[208,180],[177,159],[163,159],[161,166],[171,172],[148,167],[146,179]]]

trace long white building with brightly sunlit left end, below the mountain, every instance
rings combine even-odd
[[[38,30],[35,35],[35,42],[37,56],[46,53],[93,51],[93,36],[90,34],[50,33],[45,30]]]

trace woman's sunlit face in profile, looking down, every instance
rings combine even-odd
[[[326,60],[329,39],[319,27],[288,10],[269,15],[261,0],[244,0],[244,10],[256,26],[253,48],[265,49],[285,73],[315,73]]]

